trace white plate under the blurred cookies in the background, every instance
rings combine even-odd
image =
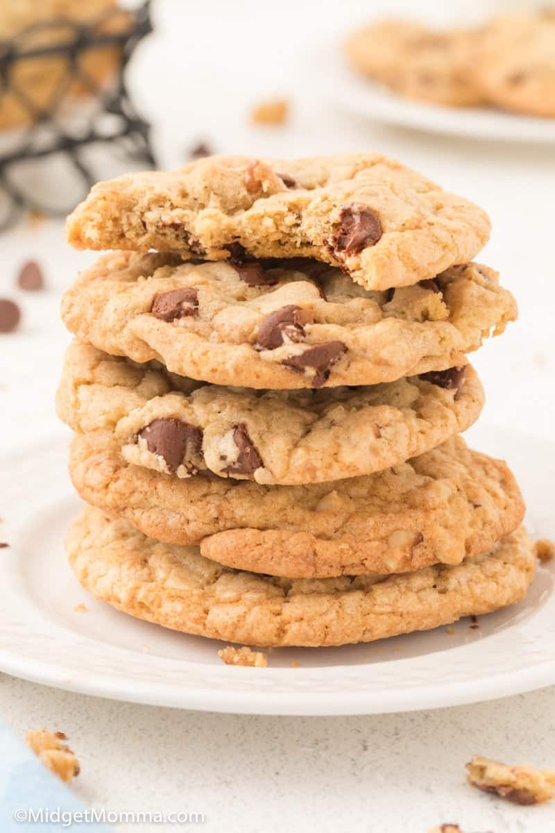
[[[400,97],[352,71],[337,43],[311,54],[305,68],[325,97],[374,122],[479,139],[555,143],[555,118],[519,116],[493,107],[443,107]]]

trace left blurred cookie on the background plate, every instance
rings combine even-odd
[[[472,46],[469,32],[434,32],[418,23],[389,20],[358,29],[344,51],[356,70],[399,95],[471,107],[483,100],[473,79]]]

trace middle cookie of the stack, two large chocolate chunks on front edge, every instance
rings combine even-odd
[[[404,462],[466,430],[483,407],[470,365],[319,392],[187,388],[156,363],[138,366],[74,342],[57,411],[73,429],[107,436],[137,466],[299,485]]]

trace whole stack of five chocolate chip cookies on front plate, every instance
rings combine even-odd
[[[488,217],[374,154],[209,157],[100,183],[58,412],[94,596],[178,631],[331,646],[510,605],[533,579],[508,467],[460,432],[467,354],[517,316]]]

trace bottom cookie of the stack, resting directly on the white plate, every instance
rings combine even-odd
[[[520,601],[535,557],[526,531],[459,566],[400,576],[298,580],[234,571],[88,508],[67,535],[77,578],[121,611],[256,646],[333,646],[425,631]]]

